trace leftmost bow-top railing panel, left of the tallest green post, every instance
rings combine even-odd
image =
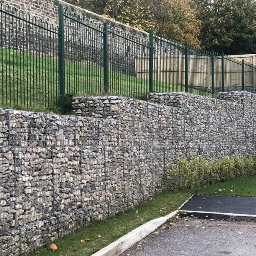
[[[58,102],[58,27],[0,2],[0,104]]]

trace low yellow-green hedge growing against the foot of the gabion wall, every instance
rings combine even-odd
[[[190,161],[180,159],[177,163],[170,163],[167,170],[172,189],[195,188],[236,177],[256,175],[256,158],[225,156],[217,160],[207,160],[195,156]]]

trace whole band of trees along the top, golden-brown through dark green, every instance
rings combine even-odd
[[[256,52],[256,0],[67,0],[127,25],[227,54]]]

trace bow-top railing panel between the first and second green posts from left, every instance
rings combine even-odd
[[[64,9],[65,93],[103,93],[103,25]]]

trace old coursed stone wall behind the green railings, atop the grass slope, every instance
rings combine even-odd
[[[3,22],[0,25],[2,35],[0,46],[4,48],[29,52],[30,55],[48,55],[51,59],[56,58],[58,56],[58,35],[54,32],[58,32],[58,4],[61,3],[66,9],[64,17],[66,60],[87,64],[90,67],[103,67],[103,23],[108,23],[109,26],[110,70],[136,76],[136,60],[148,59],[148,32],[126,26],[62,0],[3,0],[1,2],[3,3],[2,8],[7,12],[49,29],[48,31],[39,26],[28,26],[25,21],[19,19],[16,21],[12,16],[3,15]],[[5,4],[10,7],[5,7]],[[16,8],[16,11],[13,10],[13,7]],[[26,15],[27,13],[29,15]],[[68,17],[79,19],[81,23]],[[47,24],[44,21],[47,21]],[[155,58],[183,54],[183,50],[177,44],[164,43],[163,40],[155,40],[154,48],[158,52]],[[140,69],[144,69],[147,65],[142,63],[140,66]]]

